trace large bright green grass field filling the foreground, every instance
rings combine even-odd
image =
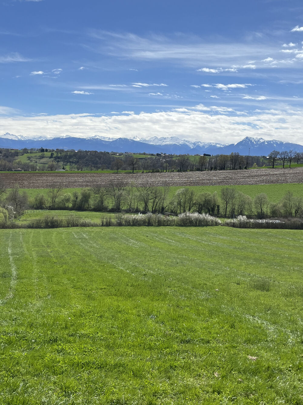
[[[0,231],[0,404],[303,403],[302,231]]]

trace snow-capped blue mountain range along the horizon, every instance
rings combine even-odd
[[[96,151],[115,151],[115,152],[133,152],[133,153],[167,153],[167,154],[186,154],[190,155],[209,153],[217,155],[220,153],[229,154],[238,152],[241,155],[267,156],[271,151],[288,151],[290,149],[303,152],[303,145],[284,142],[284,141],[266,141],[262,138],[252,138],[246,136],[242,141],[231,144],[221,144],[215,142],[187,141],[179,139],[176,136],[161,137],[156,136],[150,139],[135,137],[128,138],[106,138],[104,136],[88,136],[87,138],[78,138],[72,136],[61,136],[53,139],[36,137],[29,139],[22,135],[14,135],[6,132],[0,135],[0,147],[10,149],[23,148],[48,148],[48,149],[83,149]]]

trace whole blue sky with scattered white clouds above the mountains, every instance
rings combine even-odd
[[[0,134],[303,143],[298,0],[0,0]]]

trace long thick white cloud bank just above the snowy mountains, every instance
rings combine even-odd
[[[196,109],[183,106],[182,111],[159,111],[156,113],[99,116],[93,114],[70,114],[0,117],[0,133],[11,132],[25,136],[86,137],[87,128],[91,135],[119,138],[139,136],[178,136],[183,139],[234,143],[244,136],[264,139],[287,140],[303,143],[303,109],[253,111],[238,115],[227,107],[206,107]],[[180,107],[181,108],[181,107]],[[281,124],[283,122],[283,125]],[[278,125],[277,125],[278,124]]]

